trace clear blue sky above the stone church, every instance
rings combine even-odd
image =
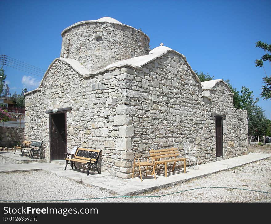
[[[84,20],[113,17],[141,29],[150,46],[161,42],[187,58],[193,70],[215,79],[229,79],[260,98],[262,77],[271,73],[269,62],[255,67],[265,53],[257,41],[271,44],[271,1],[32,1],[0,0],[0,55],[46,70],[60,56],[61,32]],[[10,91],[37,88],[42,79],[4,66]],[[36,73],[36,72],[33,72]],[[37,73],[41,75],[41,73]],[[42,76],[42,75],[41,75]],[[258,105],[271,119],[271,101]]]

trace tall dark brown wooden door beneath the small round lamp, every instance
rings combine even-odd
[[[50,114],[50,160],[64,160],[67,153],[66,113]]]

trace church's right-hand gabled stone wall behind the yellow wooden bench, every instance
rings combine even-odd
[[[184,155],[182,147],[188,143],[197,150],[200,162],[215,159],[208,150],[210,111],[203,105],[201,85],[184,58],[168,53],[141,71],[130,70],[125,80],[129,83],[122,90],[126,135],[117,140],[122,148],[126,146],[120,170],[124,178],[131,177],[133,158],[149,156],[150,149],[177,147]]]

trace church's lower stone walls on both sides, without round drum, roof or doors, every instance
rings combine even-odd
[[[198,77],[177,52],[142,69],[117,68],[84,77],[69,63],[56,60],[40,88],[25,96],[26,138],[44,140],[45,156],[50,158],[50,115],[45,111],[71,107],[68,150],[102,149],[102,171],[130,178],[134,157],[146,157],[150,149],[177,147],[184,155],[183,145],[188,144],[199,163],[215,161],[216,113],[225,116],[224,157],[241,155],[247,151],[247,114],[233,109],[223,85],[203,96]]]

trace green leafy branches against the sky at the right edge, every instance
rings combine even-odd
[[[255,66],[256,67],[263,67],[264,61],[269,61],[271,66],[271,44],[267,44],[261,41],[256,42],[256,47],[262,48],[265,50],[265,54],[261,57],[261,59],[256,59]],[[263,67],[264,68],[264,67]],[[266,72],[265,72],[266,75]],[[261,97],[263,97],[265,100],[270,99],[271,100],[271,75],[269,77],[266,75],[266,77],[263,78],[263,81],[265,83],[264,86],[262,86],[262,92]]]

